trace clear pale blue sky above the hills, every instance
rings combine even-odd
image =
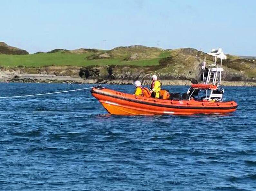
[[[256,1],[1,0],[0,41],[34,53],[145,45],[256,55]]]

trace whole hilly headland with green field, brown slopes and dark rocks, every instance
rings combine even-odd
[[[204,57],[207,64],[213,62],[210,55],[194,48],[164,50],[138,45],[120,46],[111,50],[80,48],[54,49],[35,54],[25,52],[0,43],[2,71],[76,76],[93,79],[98,83],[118,79],[144,79],[156,73],[161,79],[196,82],[201,78]],[[256,62],[252,58],[227,54],[227,60],[223,60],[223,80],[255,81]]]

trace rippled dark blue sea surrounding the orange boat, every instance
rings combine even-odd
[[[91,86],[1,83],[0,96]],[[90,90],[0,99],[0,189],[256,190],[256,87],[224,89],[228,115],[113,116]]]

